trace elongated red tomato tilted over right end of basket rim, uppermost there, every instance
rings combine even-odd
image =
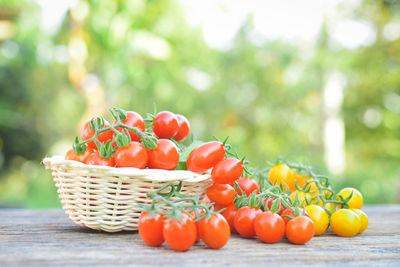
[[[186,165],[192,172],[205,172],[225,157],[225,148],[221,142],[204,143],[193,149]]]

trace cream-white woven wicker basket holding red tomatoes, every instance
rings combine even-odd
[[[198,194],[200,199],[212,184],[209,173],[94,166],[61,156],[45,158],[43,163],[52,170],[61,203],[71,220],[107,232],[137,230],[138,204],[151,203],[146,194],[168,183],[182,181],[181,192]]]

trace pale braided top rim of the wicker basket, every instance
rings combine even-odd
[[[42,161],[46,169],[66,168],[70,170],[82,170],[87,173],[102,172],[109,176],[128,176],[137,177],[144,180],[157,182],[165,181],[186,181],[201,182],[210,178],[210,170],[203,173],[195,173],[189,170],[162,170],[162,169],[138,169],[132,167],[109,167],[99,165],[88,165],[75,160],[66,160],[63,156],[54,155],[45,157]]]

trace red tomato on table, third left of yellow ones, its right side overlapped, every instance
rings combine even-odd
[[[238,209],[234,219],[236,231],[244,237],[255,236],[254,220],[259,213],[261,213],[260,209],[249,206]]]

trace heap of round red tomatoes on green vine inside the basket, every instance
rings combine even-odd
[[[65,159],[89,165],[173,170],[179,163],[179,144],[190,132],[189,121],[162,111],[149,118],[120,108],[110,110],[114,122],[95,117],[81,129]],[[146,127],[147,126],[147,127]]]

